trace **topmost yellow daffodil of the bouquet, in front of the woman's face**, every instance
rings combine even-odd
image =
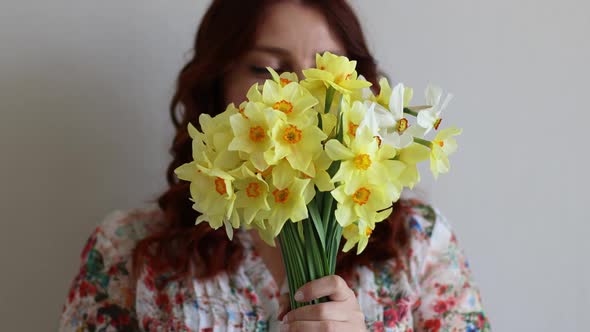
[[[354,90],[371,86],[370,82],[358,79],[355,68],[356,61],[325,52],[323,55],[316,55],[316,68],[304,70],[303,75],[312,84],[322,82],[326,87],[331,86],[342,94],[350,94]]]

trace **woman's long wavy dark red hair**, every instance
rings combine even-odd
[[[377,86],[377,65],[368,50],[358,18],[346,1],[299,2],[313,6],[325,16],[344,45],[346,55],[357,61],[357,71]],[[194,43],[194,56],[182,68],[170,104],[172,123],[176,128],[170,150],[173,160],[167,170],[169,188],[158,199],[165,224],[135,247],[136,273],[142,264],[149,262],[155,272],[171,272],[173,279],[189,275],[206,279],[221,271],[235,271],[241,263],[243,246],[237,238],[230,241],[223,227],[213,230],[206,223],[194,225],[198,213],[189,201],[189,184],[179,181],[174,169],[192,160],[188,123],[197,125],[200,114],[215,115],[225,109],[224,74],[232,61],[254,45],[264,9],[275,3],[276,0],[214,0],[203,17]],[[409,232],[402,220],[406,210],[402,203],[395,203],[394,212],[386,221],[377,224],[361,255],[357,256],[354,250],[340,252],[337,273],[347,278],[355,265],[370,265],[391,258],[400,262],[409,242]]]

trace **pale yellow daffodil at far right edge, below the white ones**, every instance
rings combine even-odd
[[[445,128],[438,132],[431,144],[430,151],[430,171],[436,179],[439,174],[447,173],[451,165],[449,155],[457,150],[457,141],[453,136],[461,134],[461,129]]]

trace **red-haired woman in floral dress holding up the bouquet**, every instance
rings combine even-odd
[[[61,330],[489,330],[453,233],[420,202],[396,203],[360,256],[340,253],[337,275],[299,290],[304,301],[332,301],[292,311],[279,291],[285,271],[277,248],[250,231],[229,241],[222,228],[194,226],[188,184],[173,173],[191,159],[187,124],[239,104],[254,82],[269,78],[266,66],[300,73],[323,51],[357,60],[358,72],[376,83],[344,0],[213,1],[171,104],[170,187],[157,207],[116,212],[91,235]]]

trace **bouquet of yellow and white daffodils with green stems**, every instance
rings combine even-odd
[[[272,79],[238,107],[188,125],[194,160],[175,170],[190,181],[196,224],[224,226],[230,239],[239,227],[271,246],[278,238],[293,309],[304,305],[295,290],[335,273],[342,237],[343,251],[364,250],[402,189],[420,180],[419,162],[430,159],[434,177],[449,171],[461,133],[438,131],[452,95],[428,85],[426,104],[411,107],[411,88],[382,78],[375,95],[355,67],[326,52],[301,81],[268,68]]]

